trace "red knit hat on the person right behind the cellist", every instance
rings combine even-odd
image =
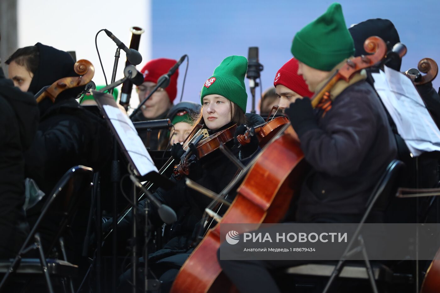
[[[297,72],[298,60],[292,58],[275,74],[274,86],[276,87],[277,84],[282,84],[303,97],[312,98],[313,93],[308,90],[304,79],[298,75]]]

